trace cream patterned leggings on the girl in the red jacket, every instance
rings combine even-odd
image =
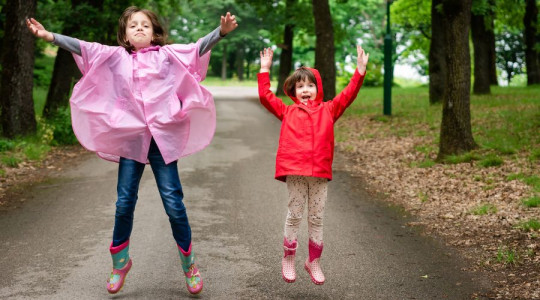
[[[323,241],[324,205],[328,194],[328,179],[307,176],[287,176],[289,211],[285,220],[285,238],[296,241],[306,202],[308,203],[308,234],[317,244]]]

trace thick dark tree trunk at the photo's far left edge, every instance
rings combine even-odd
[[[2,135],[13,138],[36,132],[34,113],[35,38],[26,28],[26,18],[35,15],[36,0],[8,0],[2,45]]]

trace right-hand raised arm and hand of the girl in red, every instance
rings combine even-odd
[[[362,87],[362,83],[364,82],[369,54],[366,54],[360,45],[356,46],[356,51],[358,57],[354,75],[349,84],[332,100],[331,103],[334,120],[341,117],[343,112],[345,112],[345,109],[356,99],[360,87]]]

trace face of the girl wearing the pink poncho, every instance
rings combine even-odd
[[[135,47],[135,51],[149,47],[152,44],[154,29],[150,18],[142,12],[134,13],[126,26],[126,38]]]

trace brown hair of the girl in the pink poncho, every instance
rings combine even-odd
[[[131,16],[138,12],[145,14],[150,19],[150,22],[152,22],[152,31],[154,32],[152,36],[152,45],[165,45],[167,41],[167,32],[163,30],[163,26],[159,23],[156,14],[148,9],[138,8],[137,6],[126,8],[124,13],[118,19],[118,34],[116,35],[118,45],[126,48],[128,52],[135,50],[135,47],[133,47],[129,41],[126,41],[126,28]]]

